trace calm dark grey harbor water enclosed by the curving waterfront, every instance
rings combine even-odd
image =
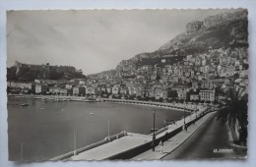
[[[28,106],[21,106],[24,103]],[[9,159],[51,159],[104,139],[108,133],[150,134],[155,109],[157,129],[165,126],[164,120],[183,117],[182,111],[152,106],[9,97]]]

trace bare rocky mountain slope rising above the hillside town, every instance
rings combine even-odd
[[[209,49],[248,46],[247,15],[247,10],[240,10],[190,22],[185,32],[176,35],[155,52],[141,53],[123,60],[117,65],[116,71],[132,71],[142,65],[160,64],[163,57],[168,64],[172,64],[186,55],[208,52]]]

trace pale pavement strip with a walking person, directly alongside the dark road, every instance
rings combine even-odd
[[[204,123],[206,123],[208,120],[210,120],[211,117],[213,117],[215,112],[209,113],[205,115],[203,118],[198,120],[195,124],[192,124],[190,127],[188,127],[188,130],[185,132],[181,132],[174,136],[171,139],[168,139],[163,142],[163,149],[162,153],[160,153],[160,146],[155,147],[155,151],[152,151],[151,149],[143,152],[142,154],[139,154],[132,158],[132,160],[153,160],[153,159],[161,159],[165,155],[172,152],[175,148],[177,148],[180,144],[182,144],[186,139],[188,139],[193,133],[195,133]]]

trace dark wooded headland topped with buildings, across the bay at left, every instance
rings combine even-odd
[[[8,81],[31,82],[40,80],[70,80],[85,78],[83,71],[77,70],[73,66],[52,66],[49,63],[36,65],[25,64],[15,61],[14,66],[7,68]]]

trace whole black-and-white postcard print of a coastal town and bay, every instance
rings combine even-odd
[[[247,9],[6,15],[10,161],[247,157]]]

